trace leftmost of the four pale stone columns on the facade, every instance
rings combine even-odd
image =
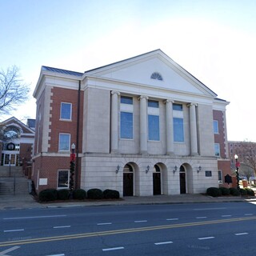
[[[111,91],[111,153],[118,152],[118,91]]]

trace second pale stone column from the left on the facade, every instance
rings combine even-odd
[[[147,153],[147,96],[140,96],[140,150]]]

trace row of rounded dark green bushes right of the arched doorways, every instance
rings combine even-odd
[[[238,195],[250,195],[254,196],[254,190],[251,190],[249,188],[244,188],[244,189],[236,189],[234,187],[230,187],[229,189],[226,187],[209,187],[206,190],[206,194],[212,196],[212,197],[220,197],[222,195],[233,195],[233,196],[238,196]]]

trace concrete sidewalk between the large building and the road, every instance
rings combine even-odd
[[[38,203],[30,194],[0,196],[0,210],[72,207],[72,206],[122,206],[143,204],[179,204],[179,203],[210,203],[210,202],[256,202],[256,197],[219,197],[212,198],[203,194],[157,195],[148,197],[126,197],[120,200],[95,200],[75,202],[46,202]]]

